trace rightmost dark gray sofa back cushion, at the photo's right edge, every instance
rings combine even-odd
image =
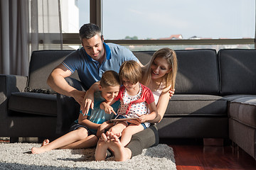
[[[256,50],[218,51],[220,94],[256,94]]]

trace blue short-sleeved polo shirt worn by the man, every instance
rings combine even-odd
[[[113,43],[106,44],[105,42],[103,45],[105,46],[106,58],[102,64],[87,55],[83,47],[70,53],[62,62],[70,72],[78,71],[80,81],[85,84],[86,89],[89,89],[96,81],[100,81],[103,72],[114,70],[118,73],[124,61],[138,61],[137,57],[126,47]]]

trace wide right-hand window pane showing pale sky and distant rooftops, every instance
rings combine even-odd
[[[102,1],[105,39],[255,37],[255,0]]]

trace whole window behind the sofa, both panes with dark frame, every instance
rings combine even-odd
[[[80,45],[80,26],[89,22],[101,26],[105,42],[133,51],[255,48],[255,0],[61,1],[67,4],[62,6],[63,43],[74,49]]]

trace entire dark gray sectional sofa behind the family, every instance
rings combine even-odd
[[[0,136],[15,141],[17,137],[55,138],[66,132],[79,106],[73,100],[74,108],[57,111],[57,105],[65,103],[57,102],[60,95],[50,90],[46,79],[70,52],[35,51],[28,77],[0,75]],[[134,55],[146,64],[153,53]],[[256,158],[256,50],[176,50],[176,54],[176,91],[157,124],[159,137],[232,140]],[[77,74],[67,81],[82,89],[75,79],[79,80]],[[68,109],[74,114],[67,118]]]

